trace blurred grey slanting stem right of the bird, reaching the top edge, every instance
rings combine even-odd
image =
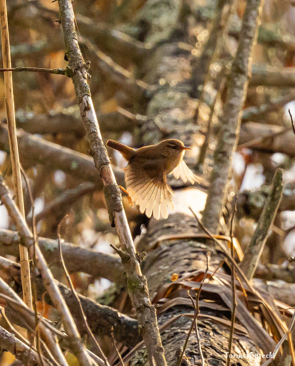
[[[222,214],[227,183],[241,127],[242,108],[251,70],[251,55],[256,42],[261,0],[249,0],[242,20],[237,53],[226,83],[226,102],[220,120],[218,144],[214,152],[214,166],[210,177],[208,197],[203,212],[205,227],[216,232]]]

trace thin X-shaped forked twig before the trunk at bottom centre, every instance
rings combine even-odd
[[[199,332],[198,332],[196,321],[197,321],[198,314],[200,314],[200,309],[199,309],[198,304],[199,304],[201,289],[203,287],[204,281],[206,279],[206,276],[207,276],[207,273],[208,273],[208,270],[209,270],[209,267],[208,267],[208,254],[206,255],[206,261],[207,261],[207,267],[206,267],[206,270],[205,270],[205,273],[204,273],[204,277],[203,277],[203,279],[200,283],[200,287],[198,288],[198,292],[197,292],[197,295],[196,295],[196,305],[194,304],[194,300],[193,300],[192,296],[189,294],[189,291],[187,292],[189,298],[192,300],[192,303],[193,303],[194,317],[193,317],[192,324],[190,325],[188,334],[186,336],[184,346],[182,347],[181,353],[179,355],[177,366],[181,365],[181,361],[182,361],[182,358],[184,356],[184,352],[186,350],[186,346],[188,345],[189,337],[192,333],[192,330],[193,330],[194,326],[195,326],[195,331],[196,331],[196,338],[197,338],[197,343],[198,343],[198,350],[199,350],[199,353],[200,353],[201,364],[202,364],[202,366],[205,366],[205,359],[204,359],[203,352],[202,352],[202,349],[201,349],[200,335],[199,335]]]

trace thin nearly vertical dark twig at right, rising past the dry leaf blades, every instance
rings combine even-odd
[[[234,198],[234,209],[232,211],[231,221],[230,221],[230,253],[231,257],[234,258],[234,243],[233,243],[233,224],[234,217],[237,211],[237,195]],[[235,290],[235,266],[231,264],[231,290],[232,290],[232,310],[231,310],[231,327],[230,327],[230,337],[228,339],[228,358],[226,360],[226,365],[230,366],[230,355],[231,355],[231,347],[232,347],[232,339],[234,337],[234,325],[235,325],[235,311],[237,308],[237,293]]]

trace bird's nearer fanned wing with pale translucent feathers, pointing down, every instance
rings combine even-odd
[[[139,173],[138,169],[133,170],[130,164],[126,168],[125,182],[132,201],[139,205],[141,213],[145,212],[147,217],[153,214],[156,220],[159,220],[160,216],[167,219],[167,208],[174,209],[171,199],[173,191],[164,179],[152,178],[144,169]]]

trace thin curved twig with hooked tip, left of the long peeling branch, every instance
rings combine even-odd
[[[75,288],[73,286],[73,283],[72,283],[72,280],[71,280],[71,276],[69,275],[69,272],[67,270],[67,267],[65,266],[64,257],[63,257],[63,251],[61,250],[60,227],[64,223],[64,220],[67,218],[67,216],[68,215],[66,215],[63,218],[63,220],[61,220],[61,222],[58,224],[58,227],[57,227],[58,250],[59,250],[59,254],[60,254],[60,262],[61,262],[61,265],[63,267],[65,276],[67,277],[67,281],[68,281],[69,287],[71,288],[72,294],[74,295],[74,298],[76,299],[77,306],[78,306],[78,308],[80,310],[80,314],[81,314],[82,320],[83,320],[84,325],[85,325],[85,328],[87,330],[87,334],[90,336],[90,339],[92,341],[92,346],[94,346],[95,348],[97,348],[98,352],[101,354],[101,356],[103,358],[103,361],[105,362],[105,365],[106,366],[110,366],[109,362],[107,361],[107,358],[106,358],[105,354],[103,353],[101,347],[98,344],[98,341],[95,339],[93,333],[91,332],[91,329],[89,328],[86,315],[85,315],[84,310],[83,310],[83,307],[81,305],[81,301],[80,301],[80,299],[79,299],[79,297],[77,295],[77,292],[76,292],[76,290],[75,290]]]

